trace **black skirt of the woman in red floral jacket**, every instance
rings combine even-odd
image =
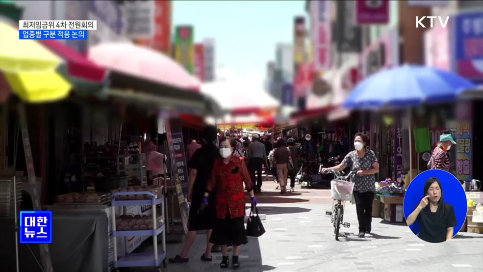
[[[216,218],[211,233],[210,243],[214,245],[245,245],[248,243],[245,217],[225,219]]]

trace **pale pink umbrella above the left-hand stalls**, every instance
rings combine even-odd
[[[89,59],[135,77],[182,89],[199,90],[201,82],[169,56],[130,43],[105,43],[89,50]]]

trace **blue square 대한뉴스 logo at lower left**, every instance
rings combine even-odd
[[[20,211],[20,244],[52,244],[52,211]]]

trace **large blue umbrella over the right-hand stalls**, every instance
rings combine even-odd
[[[403,65],[378,72],[360,82],[344,102],[348,109],[385,106],[411,107],[454,100],[472,82],[448,71],[419,65]]]

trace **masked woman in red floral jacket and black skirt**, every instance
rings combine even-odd
[[[209,194],[215,193],[216,222],[213,225],[210,243],[222,246],[223,260],[221,268],[228,268],[228,246],[233,245],[233,268],[239,268],[238,256],[240,245],[248,243],[245,230],[245,193],[243,185],[252,197],[252,204],[256,205],[253,183],[243,157],[236,156],[236,143],[229,137],[220,141],[220,155],[208,180],[204,203],[207,204]]]

